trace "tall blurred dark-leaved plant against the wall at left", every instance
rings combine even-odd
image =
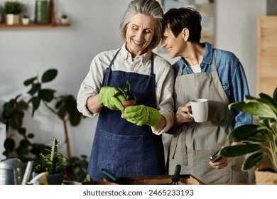
[[[65,141],[67,144],[67,156],[70,157],[70,141],[68,136],[67,122],[73,127],[80,124],[81,119],[84,118],[80,112],[77,110],[76,99],[73,95],[61,95],[56,96],[56,91],[50,88],[45,88],[48,82],[55,80],[58,75],[58,70],[49,69],[46,70],[41,77],[30,77],[23,82],[23,85],[30,87],[28,92],[24,97],[23,95],[17,95],[15,98],[10,99],[9,102],[3,105],[3,122],[6,124],[7,131],[11,128],[16,130],[17,133],[22,137],[19,139],[19,146],[16,147],[16,140],[18,137],[14,138],[15,134],[11,134],[6,138],[4,142],[5,150],[3,154],[7,158],[19,158],[22,162],[26,163],[33,160],[33,156],[38,156],[40,153],[45,152],[45,144],[36,144],[31,141],[34,134],[32,132],[28,133],[26,128],[23,127],[23,119],[26,111],[31,109],[32,117],[35,116],[36,111],[39,109],[40,105],[45,105],[45,107],[56,114],[63,122],[63,127],[65,130]],[[19,137],[19,138],[20,138]],[[72,159],[70,163],[75,163],[75,159]],[[70,167],[68,163],[67,167]]]

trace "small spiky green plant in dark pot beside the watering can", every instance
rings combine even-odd
[[[40,153],[34,159],[33,177],[45,172],[48,184],[58,185],[63,183],[63,170],[67,163],[67,158],[58,153],[58,140],[53,137],[50,149],[46,148],[45,153]]]

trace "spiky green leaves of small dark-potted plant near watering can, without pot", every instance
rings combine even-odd
[[[34,159],[33,171],[36,173],[48,172],[49,174],[60,173],[64,170],[67,158],[58,153],[58,140],[53,137],[50,149],[45,148],[44,153],[40,153]]]

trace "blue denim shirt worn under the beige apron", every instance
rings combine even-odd
[[[201,72],[212,72],[212,45],[207,42],[202,43],[202,45],[205,45],[205,53],[202,63],[200,63]],[[226,92],[229,102],[244,101],[244,97],[250,94],[244,68],[239,59],[232,52],[214,48],[214,60],[220,82]],[[183,69],[182,75],[193,73],[186,64],[185,59],[180,58],[180,60],[173,65],[175,77],[180,67]],[[238,112],[236,110],[234,110],[234,114],[234,128],[244,124],[251,124],[252,117],[250,114],[245,114],[244,112]]]

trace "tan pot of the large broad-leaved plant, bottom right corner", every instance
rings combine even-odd
[[[277,173],[272,171],[271,167],[257,168],[255,178],[257,185],[277,185]]]

